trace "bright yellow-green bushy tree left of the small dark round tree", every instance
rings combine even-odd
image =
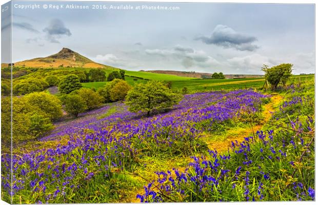
[[[44,117],[48,117],[51,120],[63,115],[61,100],[54,95],[45,92],[33,92],[25,95],[24,99],[32,107],[32,111],[41,110],[44,113]]]

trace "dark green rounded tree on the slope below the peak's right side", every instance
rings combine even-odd
[[[69,74],[66,75],[61,82],[58,84],[58,90],[61,93],[69,94],[74,90],[82,88],[81,82],[77,75]]]

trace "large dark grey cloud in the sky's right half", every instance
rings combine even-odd
[[[238,33],[232,28],[224,25],[217,25],[211,36],[200,36],[195,40],[201,40],[205,44],[214,44],[224,48],[235,48],[240,51],[254,51],[259,46],[253,45],[257,39],[254,36]]]

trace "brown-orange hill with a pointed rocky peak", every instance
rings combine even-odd
[[[33,58],[14,63],[14,66],[24,66],[33,68],[58,68],[58,67],[82,67],[82,68],[113,68],[94,61],[78,54],[71,49],[63,48],[56,54]]]

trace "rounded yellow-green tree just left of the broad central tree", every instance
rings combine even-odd
[[[118,79],[116,83],[109,89],[109,95],[111,101],[118,101],[125,99],[127,92],[131,89],[131,86],[127,84],[125,80]]]

